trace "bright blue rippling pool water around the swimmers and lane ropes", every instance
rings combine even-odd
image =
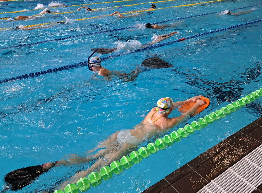
[[[37,3],[40,2],[35,4]],[[141,2],[108,3],[106,7],[135,3]],[[196,1],[171,1],[156,3],[156,6],[159,8],[191,3],[196,3]],[[72,2],[71,4],[76,3]],[[63,14],[69,18],[67,25],[59,24],[51,28],[30,31],[1,31],[0,48],[136,24],[160,22],[177,17],[219,12],[224,9],[254,4],[257,4],[257,1],[221,1],[156,10],[151,11],[151,14],[145,12],[143,15],[132,18],[100,17],[84,21],[70,21],[70,19],[93,17],[114,11],[85,13],[81,10]],[[12,6],[16,5],[28,5],[28,3],[12,3]],[[105,5],[97,5],[97,7],[103,6]],[[90,5],[90,7],[97,8],[95,5]],[[122,13],[148,7],[150,7],[150,3],[124,7],[119,11],[121,10]],[[77,6],[51,10],[63,12],[76,8]],[[120,49],[114,53],[97,54],[101,57],[110,56],[134,50],[140,44],[148,44],[153,35],[172,31],[180,33],[163,41],[168,42],[261,19],[261,6],[254,8],[255,10],[251,13],[237,17],[233,15],[215,17],[218,14],[210,14],[184,19],[184,22],[177,27],[163,30],[143,28],[132,31],[119,30],[112,33],[0,50],[1,80],[86,61],[92,53],[91,48],[119,46]],[[22,9],[8,8],[4,11]],[[1,9],[2,11],[3,9]],[[1,14],[1,17],[33,15],[39,12],[40,10],[16,14],[8,13]],[[46,15],[46,17],[35,20],[16,21],[14,26],[18,26],[19,23],[32,25],[57,22],[65,20],[63,16]],[[0,28],[10,27],[12,24],[12,22],[1,20]],[[124,82],[117,77],[112,77],[110,81],[96,79],[97,76],[94,76],[88,67],[81,67],[0,84],[2,93],[0,98],[2,131],[0,135],[2,149],[0,179],[2,184],[4,184],[2,180],[4,175],[12,170],[59,160],[71,154],[84,155],[85,151],[94,148],[98,142],[106,139],[110,134],[139,124],[161,97],[170,96],[174,100],[184,100],[194,95],[203,94],[210,98],[210,105],[205,111],[174,128],[177,130],[185,123],[198,120],[215,109],[226,106],[243,95],[261,88],[260,34],[261,23],[255,23],[149,51],[119,56],[102,63],[102,66],[107,69],[129,73],[136,66],[141,65],[143,60],[156,55],[174,66],[174,68],[150,69],[141,72],[135,81],[131,82]],[[129,42],[125,43],[127,41]],[[92,76],[95,79],[91,78]],[[135,164],[131,169],[114,176],[113,179],[104,181],[100,186],[90,189],[89,192],[143,191],[206,149],[260,117],[260,101],[261,99],[258,99],[219,122],[196,131],[194,135],[190,135],[172,147],[152,154],[148,159]],[[176,116],[178,113],[174,112],[172,115]],[[67,177],[86,167],[86,165],[54,167],[41,175],[33,184],[17,192],[55,190],[54,184],[61,184]]]

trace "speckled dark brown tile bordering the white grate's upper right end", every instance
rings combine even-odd
[[[261,132],[262,134],[262,132]],[[261,143],[250,138],[249,136],[245,135],[241,138],[238,138],[237,141],[231,144],[231,146],[235,147],[236,149],[244,152],[246,155],[252,152],[255,148],[260,146]]]

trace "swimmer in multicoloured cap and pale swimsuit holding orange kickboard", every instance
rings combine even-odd
[[[144,141],[165,135],[171,128],[187,119],[188,116],[193,115],[199,106],[205,104],[200,98],[201,95],[177,102],[173,102],[169,97],[159,99],[156,106],[150,110],[144,120],[133,129],[125,129],[113,133],[107,140],[100,142],[96,148],[90,150],[87,157],[78,157],[78,160],[77,157],[75,157],[71,164],[89,162],[90,160],[96,160],[96,162],[87,170],[76,173],[69,181],[61,184],[59,189],[64,188],[68,183],[75,183],[79,178],[83,178],[92,171],[109,165],[113,161],[120,160],[123,156],[137,150],[139,145]],[[187,102],[196,103],[192,108],[182,113],[180,116],[168,117],[174,109],[179,108]],[[51,162],[46,164],[47,167],[52,167]],[[70,164],[70,161],[58,161],[56,166],[63,164]]]

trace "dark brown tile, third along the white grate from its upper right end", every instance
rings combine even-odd
[[[215,158],[210,158],[205,163],[199,165],[196,169],[194,169],[194,171],[201,175],[207,181],[211,181],[227,169],[228,167],[223,163],[219,162]]]

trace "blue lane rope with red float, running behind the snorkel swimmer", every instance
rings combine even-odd
[[[248,25],[248,24],[254,24],[254,23],[257,23],[257,22],[261,22],[261,21],[262,21],[262,19],[259,19],[259,20],[255,20],[255,21],[251,21],[251,22],[247,22],[247,23],[243,23],[243,24],[232,25],[232,26],[229,26],[229,27],[226,27],[226,28],[208,31],[208,32],[204,32],[202,34],[196,34],[196,35],[193,35],[193,36],[188,36],[188,37],[185,37],[185,38],[182,38],[182,39],[177,39],[177,40],[174,40],[174,41],[169,41],[169,42],[165,42],[165,43],[161,43],[161,44],[155,44],[155,45],[147,46],[147,47],[140,48],[140,49],[135,49],[135,50],[130,51],[130,52],[123,52],[123,53],[119,53],[119,54],[115,54],[115,55],[111,55],[111,56],[107,56],[107,57],[102,57],[100,59],[101,59],[101,61],[106,61],[108,59],[115,58],[117,56],[123,56],[123,55],[131,54],[131,53],[135,53],[135,52],[147,51],[147,50],[155,49],[155,48],[162,47],[162,46],[165,46],[165,45],[170,45],[170,44],[173,44],[173,43],[176,43],[176,42],[181,42],[181,41],[184,41],[184,40],[193,39],[195,37],[200,37],[200,36],[203,36],[203,35],[213,34],[213,33],[219,32],[219,31],[238,28],[240,26],[244,26],[244,25]],[[83,66],[87,66],[87,65],[88,65],[88,61],[79,62],[79,63],[75,63],[75,64],[72,64],[72,65],[69,65],[69,66],[66,65],[66,66],[63,66],[63,67],[48,69],[46,71],[44,70],[44,71],[41,71],[41,72],[23,74],[22,76],[17,76],[16,78],[14,78],[14,77],[6,78],[6,79],[3,79],[2,81],[0,80],[0,83],[6,83],[6,82],[9,82],[9,81],[20,80],[20,79],[25,79],[25,78],[29,78],[29,77],[34,78],[36,76],[41,76],[42,74],[59,72],[59,71],[69,70],[69,69],[83,67]]]

